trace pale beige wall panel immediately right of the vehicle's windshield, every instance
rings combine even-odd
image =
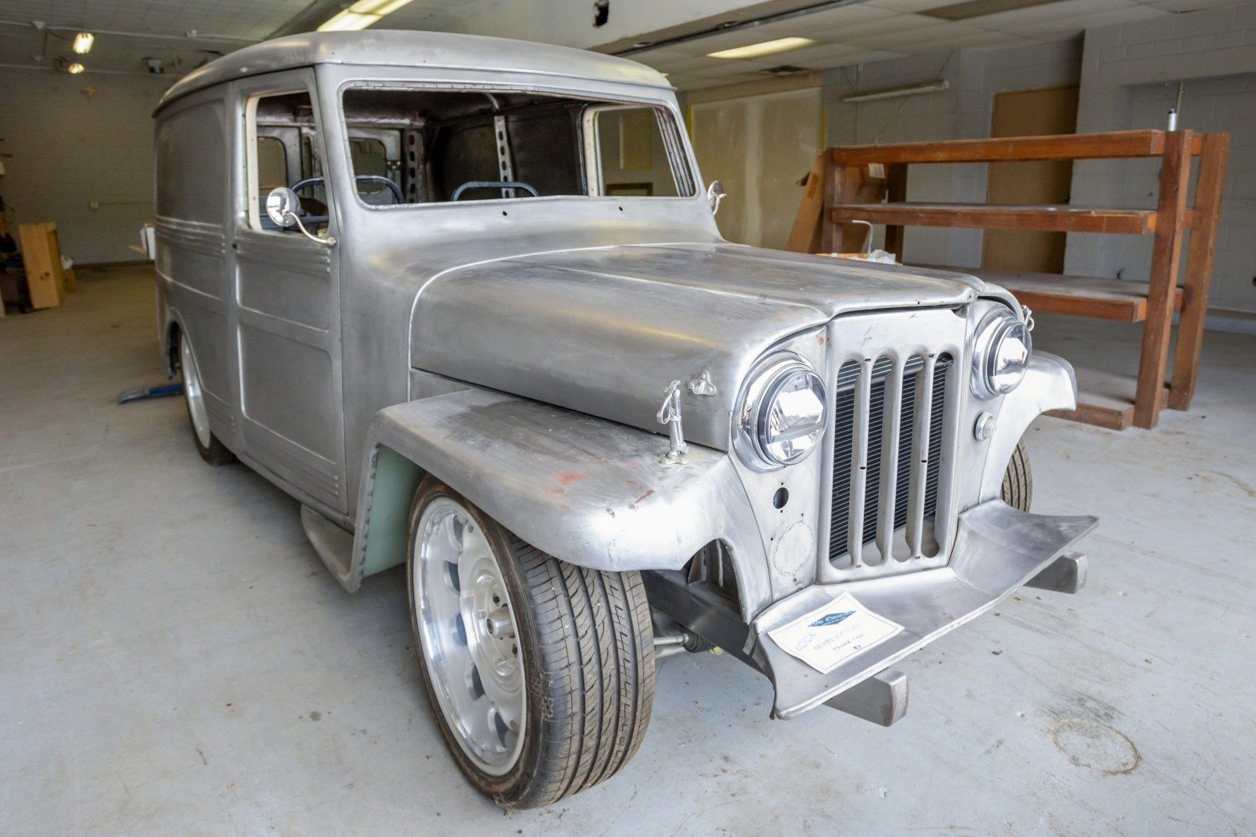
[[[716,222],[730,241],[785,249],[798,214],[798,180],[820,151],[820,88],[765,93],[690,108],[702,177],[728,197]]]

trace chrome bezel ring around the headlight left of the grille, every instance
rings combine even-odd
[[[776,400],[786,392],[791,382],[803,376],[805,387],[815,395],[819,412],[814,418],[815,430],[804,450],[791,455],[777,452],[779,445],[772,440],[770,415]],[[793,390],[798,392],[799,390]],[[824,380],[805,359],[793,353],[772,356],[759,363],[744,388],[736,413],[734,449],[742,462],[756,471],[775,471],[804,461],[819,446],[826,427],[829,412],[828,393]]]

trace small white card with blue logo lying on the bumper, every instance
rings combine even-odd
[[[767,632],[772,642],[816,671],[828,674],[860,651],[903,630],[860,604],[850,593]]]

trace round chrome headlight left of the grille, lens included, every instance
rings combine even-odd
[[[803,358],[774,358],[745,390],[734,447],[759,470],[800,462],[824,434],[825,403],[824,382]]]

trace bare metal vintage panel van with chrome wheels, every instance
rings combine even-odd
[[[201,455],[301,504],[348,591],[406,564],[448,749],[509,808],[619,770],[661,656],[775,718],[902,716],[893,666],[1089,517],[1027,512],[1074,406],[966,275],[735,245],[667,80],[571,49],[300,35],[157,113],[157,293]]]

